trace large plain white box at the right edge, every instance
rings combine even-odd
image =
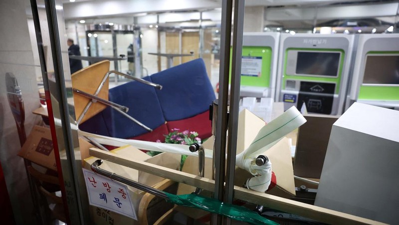
[[[334,124],[315,205],[397,224],[399,111],[354,103]]]

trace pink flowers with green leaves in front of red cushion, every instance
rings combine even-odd
[[[201,143],[201,139],[198,137],[198,133],[195,131],[185,130],[180,132],[180,129],[174,128],[172,132],[165,136],[165,143],[168,144],[181,144],[181,145],[192,145],[194,143]],[[161,140],[157,140],[157,142],[161,143]],[[156,156],[160,154],[160,152],[149,151],[147,152],[150,156]],[[182,160],[180,162],[180,170],[183,168],[183,164],[186,161],[187,156],[182,155]]]

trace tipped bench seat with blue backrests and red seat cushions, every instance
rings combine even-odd
[[[109,89],[108,100],[129,108],[129,117],[152,131],[112,107],[96,112],[96,115],[80,123],[79,129],[109,137],[145,141],[163,141],[164,135],[175,128],[196,131],[201,139],[211,136],[209,105],[215,94],[202,59],[143,79],[162,85],[162,89],[131,81]]]

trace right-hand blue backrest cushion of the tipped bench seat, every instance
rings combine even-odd
[[[216,98],[201,58],[151,75],[166,121],[193,117],[209,109]]]

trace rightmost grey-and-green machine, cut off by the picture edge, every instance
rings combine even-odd
[[[359,35],[348,98],[399,110],[399,34]]]

